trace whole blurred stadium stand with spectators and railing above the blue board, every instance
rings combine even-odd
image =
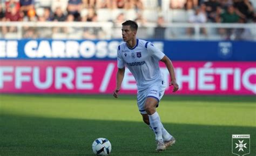
[[[234,11],[228,12],[230,6],[233,6]],[[120,31],[121,23],[131,19],[136,20],[144,30],[145,34],[139,35],[143,38],[159,38],[160,34],[165,34],[164,39],[254,40],[255,10],[255,0],[2,0],[0,37],[120,38],[117,32]],[[154,31],[158,27],[159,17],[164,19],[164,29]],[[233,17],[237,17],[237,20],[229,20]],[[203,18],[205,20],[201,24],[200,19]],[[13,22],[21,24],[17,26]],[[34,27],[25,27],[24,22],[36,24],[32,24]],[[45,22],[59,24],[46,24],[48,26],[44,27]],[[72,24],[64,28],[61,22]],[[78,26],[77,22],[82,25]],[[98,23],[98,27],[90,27],[88,23],[91,22]],[[100,23],[112,26],[106,27]],[[218,27],[214,26],[215,23],[218,23]],[[233,27],[233,23],[237,23],[237,27]],[[179,27],[175,24],[179,24]],[[228,31],[231,28],[232,31]]]

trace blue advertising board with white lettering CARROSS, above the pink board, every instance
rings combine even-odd
[[[256,61],[254,41],[149,40],[171,60]],[[122,40],[0,40],[1,59],[116,60]]]

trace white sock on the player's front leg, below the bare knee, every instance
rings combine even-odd
[[[161,121],[157,112],[152,115],[149,115],[150,125],[156,135],[156,140],[163,141],[162,131],[161,131]]]

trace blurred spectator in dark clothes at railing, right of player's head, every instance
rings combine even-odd
[[[154,39],[165,39],[165,20],[163,16],[157,18],[157,26],[154,28]]]

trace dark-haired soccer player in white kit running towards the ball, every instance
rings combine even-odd
[[[161,97],[164,95],[166,83],[160,72],[159,60],[164,62],[171,76],[170,86],[173,92],[179,89],[171,60],[151,42],[136,39],[138,24],[132,20],[122,23],[122,36],[125,41],[117,48],[116,89],[114,97],[118,97],[124,79],[125,66],[129,68],[137,82],[137,104],[143,121],[150,126],[156,135],[157,151],[175,143],[175,139],[167,132],[156,111]]]

